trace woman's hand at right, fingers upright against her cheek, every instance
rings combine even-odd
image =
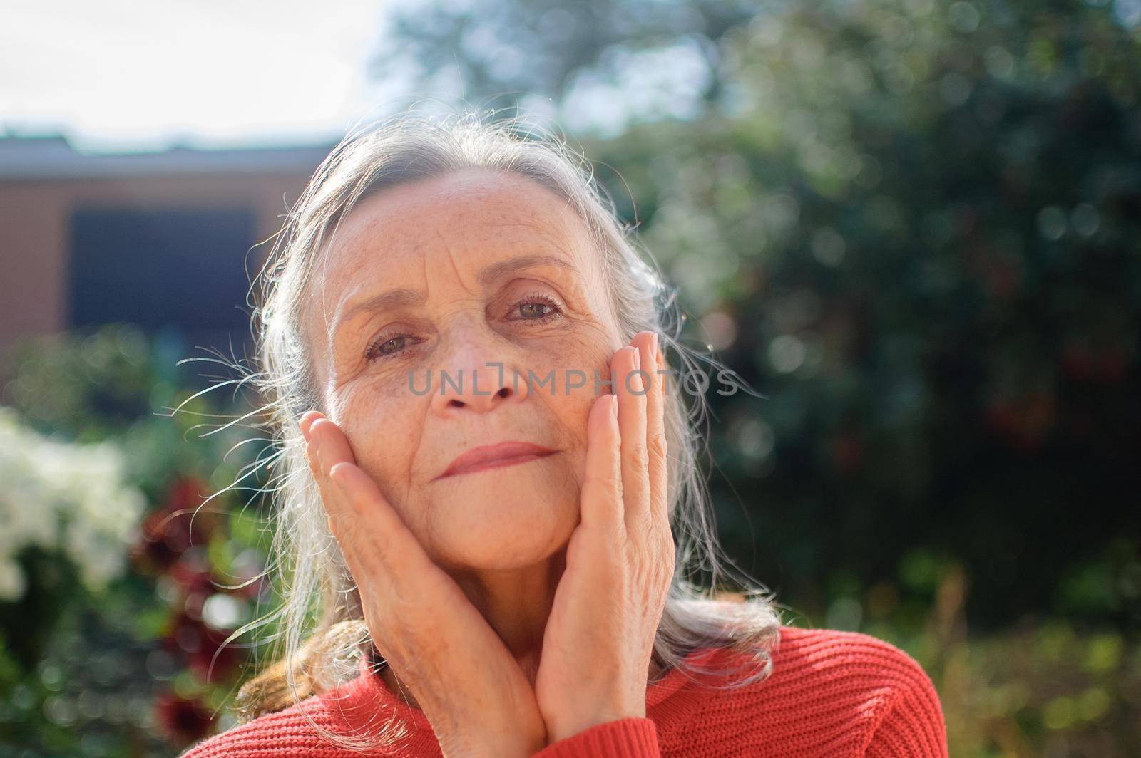
[[[639,333],[610,367],[614,394],[590,409],[582,519],[567,546],[535,680],[551,742],[645,717],[654,637],[673,577],[657,335]]]

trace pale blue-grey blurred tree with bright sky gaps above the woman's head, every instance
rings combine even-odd
[[[746,0],[407,3],[390,11],[371,74],[415,91],[460,84],[485,107],[608,90],[638,117],[696,115],[721,97],[722,39],[756,13]]]

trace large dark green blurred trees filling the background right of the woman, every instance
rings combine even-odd
[[[920,619],[962,562],[972,625],[1141,620],[1141,14],[719,7],[723,27],[689,3],[565,10],[606,27],[577,58],[543,2],[406,11],[398,44],[469,72],[469,101],[564,107],[610,46],[715,44],[691,95],[717,107],[584,149],[621,172],[598,176],[689,337],[770,397],[710,393],[712,486],[728,547],[787,602]],[[475,19],[494,34],[461,39]]]

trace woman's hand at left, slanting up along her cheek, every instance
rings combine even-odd
[[[531,756],[547,742],[535,693],[483,614],[424,553],[340,427],[301,416],[329,528],[377,650],[412,691],[445,756]]]

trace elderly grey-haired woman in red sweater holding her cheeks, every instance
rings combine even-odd
[[[285,654],[186,756],[946,755],[904,652],[687,581],[695,354],[576,157],[402,115],[317,170],[258,309]]]

